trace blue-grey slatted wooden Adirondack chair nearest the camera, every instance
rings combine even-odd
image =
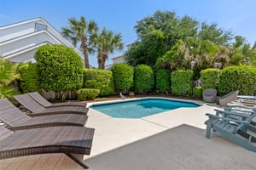
[[[229,115],[241,116],[234,112],[228,113]],[[226,138],[232,140],[236,144],[240,144],[247,150],[252,150],[256,152],[256,137],[252,133],[247,133],[247,126],[252,122],[253,117],[256,116],[254,112],[250,116],[246,116],[245,119],[233,119],[227,116],[216,116],[211,114],[206,114],[209,119],[205,124],[207,124],[206,138],[210,138],[211,130],[221,133]]]

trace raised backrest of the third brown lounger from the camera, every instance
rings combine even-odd
[[[45,108],[42,105],[39,105],[38,102],[36,102],[30,95],[28,94],[20,94],[14,96],[17,101],[26,107],[29,111],[32,111],[33,113],[39,113],[45,110]]]

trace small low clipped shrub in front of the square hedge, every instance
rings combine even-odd
[[[83,101],[85,99],[95,99],[100,94],[99,89],[95,88],[81,88],[77,91],[78,99]]]

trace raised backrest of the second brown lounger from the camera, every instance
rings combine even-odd
[[[0,99],[0,120],[11,127],[20,125],[22,122],[30,120],[31,117],[22,113],[8,99]]]

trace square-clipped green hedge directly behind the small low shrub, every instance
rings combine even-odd
[[[114,93],[112,71],[85,69],[84,68],[84,86],[83,88],[100,89],[101,96]]]

